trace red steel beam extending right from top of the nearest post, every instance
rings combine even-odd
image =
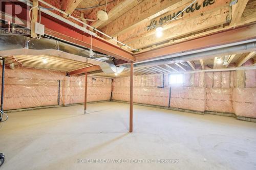
[[[237,29],[230,29],[223,32],[207,35],[193,40],[169,45],[148,52],[136,54],[136,61],[144,61],[165,57],[168,55],[201,50],[234,42],[245,41],[256,38],[256,24],[244,26]]]

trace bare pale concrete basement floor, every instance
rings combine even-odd
[[[256,169],[255,123],[134,106],[134,133],[127,133],[129,105],[89,104],[88,110],[83,115],[83,106],[77,105],[9,113],[0,129],[0,152],[6,155],[1,168]],[[77,159],[153,159],[153,163],[77,163]],[[179,163],[154,163],[159,159]]]

